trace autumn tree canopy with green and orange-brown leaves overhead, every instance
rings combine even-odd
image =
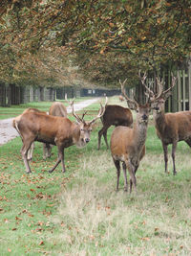
[[[138,69],[190,55],[190,10],[190,0],[2,0],[0,76],[134,84]]]

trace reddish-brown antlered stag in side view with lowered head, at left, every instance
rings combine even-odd
[[[57,146],[58,157],[49,173],[53,173],[53,170],[60,162],[62,164],[62,172],[66,172],[64,163],[64,150],[66,148],[73,145],[78,148],[83,148],[90,142],[92,127],[96,120],[103,115],[105,106],[100,103],[98,114],[89,122],[84,120],[84,116],[80,118],[74,112],[74,101],[72,102],[71,107],[77,122],[76,124],[67,117],[45,115],[38,111],[28,110],[13,119],[12,126],[18,131],[23,142],[21,154],[27,174],[32,173],[27,159],[27,153],[32,142],[39,141]]]

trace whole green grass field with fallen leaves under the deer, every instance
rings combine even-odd
[[[188,146],[178,145],[178,175],[172,174],[170,155],[164,174],[151,118],[138,194],[129,195],[123,192],[122,174],[116,192],[116,169],[103,141],[96,150],[100,126],[96,122],[86,148],[65,151],[64,175],[61,166],[52,175],[47,172],[56,159],[55,147],[44,161],[42,146],[35,143],[32,175],[25,174],[20,138],[0,147],[0,255],[191,255]]]

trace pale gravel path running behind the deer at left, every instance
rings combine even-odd
[[[74,110],[78,111],[88,105],[92,105],[98,101],[98,98],[87,100],[82,103],[78,103],[74,105]],[[71,112],[71,107],[67,108],[68,113]],[[14,139],[15,137],[19,136],[18,132],[15,130],[15,128],[12,128],[12,119],[4,119],[0,120],[0,146],[7,143],[8,141]]]

